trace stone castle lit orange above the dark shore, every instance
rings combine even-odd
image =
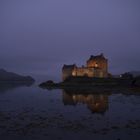
[[[73,65],[64,65],[62,68],[62,79],[65,80],[70,76],[87,76],[87,77],[108,77],[108,60],[101,53],[87,60],[86,66],[77,67]]]

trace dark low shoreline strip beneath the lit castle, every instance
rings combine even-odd
[[[140,77],[138,78],[89,78],[89,77],[69,77],[63,82],[55,83],[52,80],[39,85],[46,89],[87,89],[102,90],[113,88],[140,88]]]

